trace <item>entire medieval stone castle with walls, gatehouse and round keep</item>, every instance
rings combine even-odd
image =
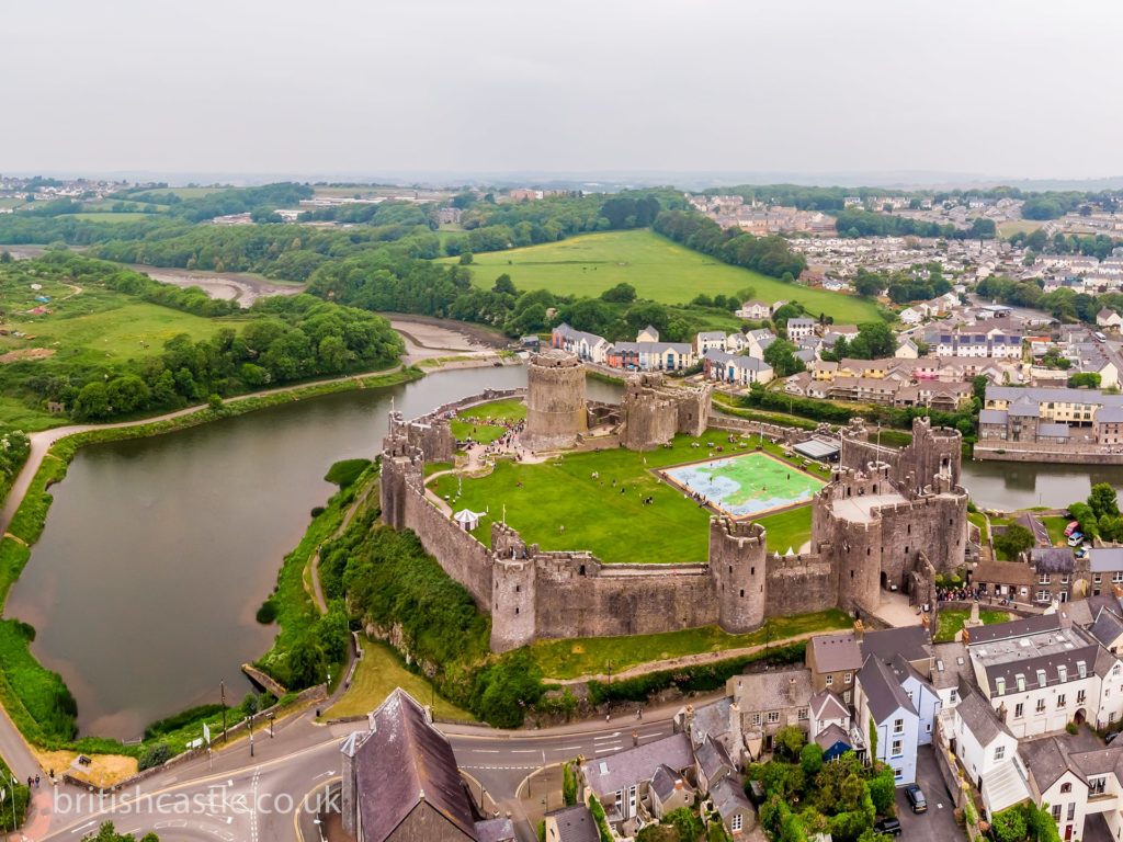
[[[424,486],[427,461],[454,461],[453,411],[523,392],[489,392],[412,421],[392,413],[383,442],[382,516],[411,529],[445,571],[492,615],[492,649],[540,638],[650,634],[702,625],[740,633],[772,616],[839,607],[876,611],[896,589],[934,602],[934,577],[959,567],[967,549],[967,492],[959,486],[960,434],[913,422],[912,443],[885,448],[860,420],[839,438],[839,465],[812,502],[810,549],[767,550],[751,519],[713,515],[705,562],[600,561],[591,552],[544,551],[503,523],[485,547]],[[741,429],[711,414],[711,387],[678,386],[658,374],[628,379],[621,404],[585,399],[585,370],[570,354],[531,358],[521,443],[536,452],[626,447],[646,450],[676,433]],[[743,423],[743,422],[742,422]],[[599,429],[601,434],[592,436]],[[608,430],[608,433],[603,431]],[[658,541],[637,527],[636,542]]]

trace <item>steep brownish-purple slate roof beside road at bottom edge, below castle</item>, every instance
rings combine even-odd
[[[422,800],[467,839],[478,840],[453,749],[424,708],[398,688],[371,714],[372,730],[353,747],[363,833],[383,842]]]

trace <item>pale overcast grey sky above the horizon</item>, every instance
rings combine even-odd
[[[0,172],[1123,173],[1123,3],[10,0]]]

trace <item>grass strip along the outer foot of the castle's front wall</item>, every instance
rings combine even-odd
[[[663,634],[628,638],[579,638],[540,640],[530,647],[531,657],[547,678],[577,678],[620,672],[640,663],[681,658],[702,652],[764,646],[810,632],[849,629],[852,620],[842,611],[775,617],[748,634],[728,634],[715,625]]]

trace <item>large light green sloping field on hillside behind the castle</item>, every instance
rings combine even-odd
[[[699,293],[730,295],[751,287],[752,296],[760,301],[798,301],[809,312],[833,315],[840,323],[878,318],[868,301],[729,266],[648,230],[587,234],[560,242],[474,255],[472,275],[477,286],[490,287],[504,272],[520,290],[599,295],[627,282],[640,298],[682,304]]]

